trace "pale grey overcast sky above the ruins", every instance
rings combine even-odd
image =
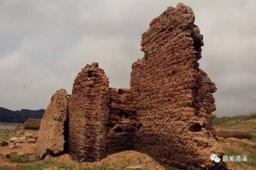
[[[71,93],[87,63],[111,87],[130,85],[143,57],[141,34],[177,0],[0,0],[0,106],[45,109],[60,88]],[[200,3],[199,3],[200,2]],[[256,111],[256,1],[184,0],[204,35],[200,68],[216,83],[219,116]]]

